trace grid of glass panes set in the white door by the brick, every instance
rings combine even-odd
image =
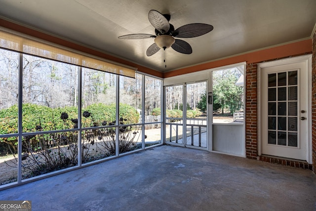
[[[298,147],[297,75],[268,74],[268,144]]]

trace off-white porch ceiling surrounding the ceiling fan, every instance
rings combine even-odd
[[[192,54],[163,50],[147,57],[154,39],[120,40],[154,34],[151,9],[171,15],[175,29],[190,23],[214,26],[210,33],[183,39]],[[160,72],[175,70],[286,42],[310,39],[316,0],[0,0],[2,18],[81,43]]]

